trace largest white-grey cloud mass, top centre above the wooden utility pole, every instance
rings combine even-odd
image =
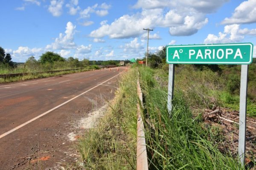
[[[141,12],[123,15],[110,24],[104,23],[91,31],[90,37],[134,38],[144,34],[143,28],[154,27],[169,27],[172,36],[189,36],[208,23],[207,14],[215,12],[227,1],[138,0],[134,8],[141,8]]]

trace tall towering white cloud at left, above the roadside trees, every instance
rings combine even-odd
[[[74,34],[75,34],[76,26],[73,23],[68,22],[66,26],[65,35],[62,33],[59,34],[59,37],[55,39],[55,42],[52,42],[51,45],[47,45],[47,49],[70,49],[76,46],[74,42]]]

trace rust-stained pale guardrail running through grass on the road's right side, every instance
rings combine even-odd
[[[148,170],[144,124],[140,108],[140,106],[143,107],[143,99],[139,79],[137,80],[137,94],[140,99],[137,103],[137,170]]]

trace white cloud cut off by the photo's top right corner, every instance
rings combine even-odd
[[[225,18],[222,24],[242,24],[256,22],[256,0],[247,0],[236,7],[230,18]]]

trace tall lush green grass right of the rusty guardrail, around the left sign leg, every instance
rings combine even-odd
[[[156,170],[238,170],[238,159],[218,144],[222,138],[218,130],[204,127],[201,116],[194,117],[182,91],[175,91],[173,111],[167,111],[167,88],[154,78],[149,68],[140,68],[145,99],[146,141],[150,169]],[[146,121],[145,124],[147,125]]]

